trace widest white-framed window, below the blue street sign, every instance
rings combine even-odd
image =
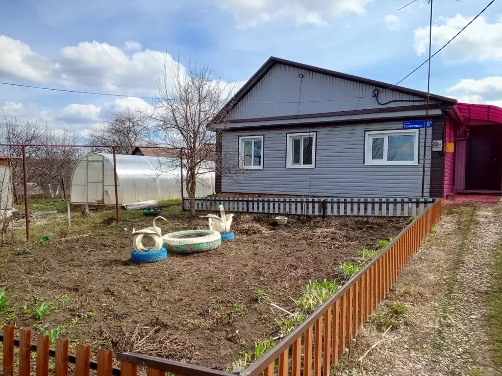
[[[365,134],[364,164],[418,164],[418,129]]]

